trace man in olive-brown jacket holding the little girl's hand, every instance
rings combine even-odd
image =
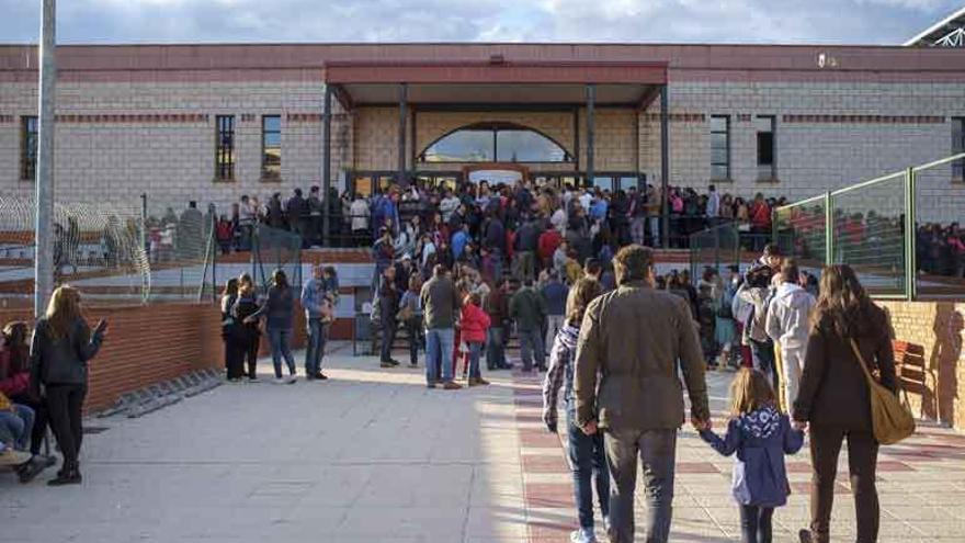
[[[580,327],[574,370],[577,425],[587,434],[605,432],[614,482],[610,541],[634,541],[639,454],[649,517],[646,541],[665,542],[670,534],[677,430],[684,420],[678,369],[690,396],[691,421],[708,428],[704,360],[686,302],[652,287],[650,249],[624,247],[613,263],[618,287],[590,303]]]

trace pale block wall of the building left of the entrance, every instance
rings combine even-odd
[[[213,202],[227,212],[241,194],[262,199],[321,182],[321,108],[315,81],[61,82],[55,177],[60,201],[106,201],[149,212]],[[332,172],[351,162],[351,120],[333,102]],[[36,84],[0,83],[0,194],[27,196],[20,180],[21,118],[36,115]],[[215,176],[216,115],[235,115],[235,180]],[[281,180],[261,177],[263,115],[280,115]]]

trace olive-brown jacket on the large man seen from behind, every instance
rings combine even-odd
[[[691,415],[709,418],[704,359],[686,301],[642,281],[590,303],[574,371],[580,426],[595,419],[615,430],[679,428],[684,420],[679,373]]]

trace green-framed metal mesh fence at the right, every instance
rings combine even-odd
[[[819,272],[844,263],[878,298],[916,299],[920,296],[965,296],[965,241],[953,226],[965,207],[950,204],[952,163],[965,154],[863,181],[809,197],[774,211],[773,238],[782,252],[799,265]],[[945,186],[941,186],[944,184]],[[949,260],[933,269],[919,241],[923,230],[938,228],[935,240]]]

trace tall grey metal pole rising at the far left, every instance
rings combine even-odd
[[[54,108],[57,61],[54,57],[55,0],[43,0],[41,16],[39,126],[37,191],[34,215],[34,317],[44,314],[54,290]]]

